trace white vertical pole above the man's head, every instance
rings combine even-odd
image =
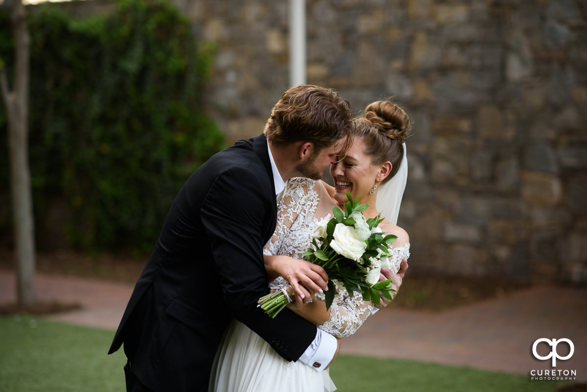
[[[289,0],[289,84],[306,84],[306,0]]]

